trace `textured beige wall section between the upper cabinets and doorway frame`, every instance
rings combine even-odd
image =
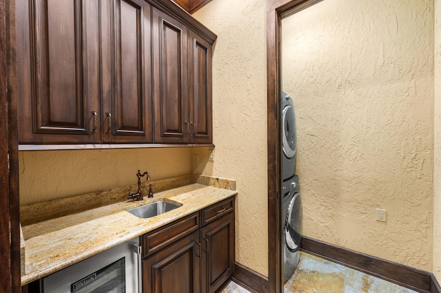
[[[265,0],[214,0],[194,17],[218,35],[213,58],[214,162],[237,180],[236,261],[268,275]]]

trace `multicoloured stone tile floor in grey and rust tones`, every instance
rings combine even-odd
[[[284,293],[416,293],[343,265],[300,252],[294,274],[285,282]],[[221,293],[250,293],[230,282]]]

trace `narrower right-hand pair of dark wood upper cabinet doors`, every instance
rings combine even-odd
[[[212,45],[154,8],[154,140],[212,143]]]

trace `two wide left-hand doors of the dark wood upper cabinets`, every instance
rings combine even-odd
[[[150,4],[19,1],[19,141],[152,142]]]

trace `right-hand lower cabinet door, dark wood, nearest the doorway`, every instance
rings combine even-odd
[[[201,228],[203,292],[216,292],[234,272],[234,213]]]

